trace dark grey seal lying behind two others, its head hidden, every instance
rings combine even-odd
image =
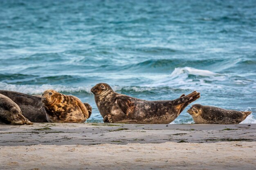
[[[14,91],[2,91],[0,94],[9,97],[15,102],[22,112],[22,115],[31,122],[47,122],[45,109],[41,102],[41,97],[26,95]]]

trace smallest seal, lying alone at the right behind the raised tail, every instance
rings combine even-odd
[[[194,104],[187,111],[196,124],[239,124],[251,111],[226,110],[214,106]]]

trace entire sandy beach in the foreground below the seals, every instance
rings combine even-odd
[[[256,124],[0,125],[0,169],[256,167]]]

